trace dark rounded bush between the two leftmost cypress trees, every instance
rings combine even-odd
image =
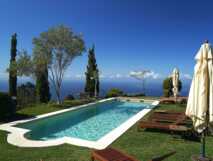
[[[18,107],[22,108],[27,105],[32,105],[37,102],[35,85],[27,82],[18,87],[17,103]]]

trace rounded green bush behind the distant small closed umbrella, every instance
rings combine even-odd
[[[168,77],[163,81],[163,94],[165,97],[170,97],[173,95],[173,83],[172,77]],[[182,89],[182,82],[179,80],[178,83],[178,91],[180,92]]]

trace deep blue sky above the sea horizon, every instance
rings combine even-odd
[[[192,76],[201,43],[213,42],[212,6],[211,0],[1,0],[0,79],[12,33],[18,49],[31,53],[32,38],[59,24],[83,33],[87,47],[95,44],[103,79],[129,79],[130,71],[148,69],[157,80],[174,67]],[[66,79],[82,77],[86,65],[83,53]]]

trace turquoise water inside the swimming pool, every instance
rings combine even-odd
[[[26,137],[32,140],[50,140],[66,136],[97,141],[150,106],[145,103],[111,100],[20,124],[18,127],[30,129]]]

